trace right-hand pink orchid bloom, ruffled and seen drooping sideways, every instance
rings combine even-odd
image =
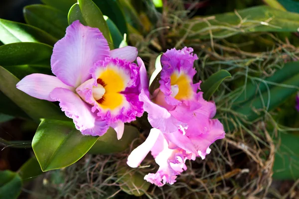
[[[149,123],[162,134],[163,150],[159,155],[153,155],[157,154],[155,147],[158,147],[158,144],[153,145],[155,141],[152,141],[154,139],[149,136],[141,145],[141,148],[148,150],[135,149],[130,154],[127,163],[131,167],[138,167],[151,150],[160,169],[155,175],[150,175],[145,179],[157,186],[162,186],[166,182],[173,184],[175,176],[181,171],[169,172],[169,167],[166,168],[165,165],[161,166],[159,163],[161,159],[168,160],[169,164],[167,164],[172,165],[171,168],[177,161],[180,162],[180,168],[185,168],[186,159],[194,160],[197,156],[204,159],[211,151],[209,146],[215,140],[225,136],[220,121],[212,119],[216,114],[215,103],[204,100],[203,93],[197,92],[200,89],[200,82],[193,84],[193,76],[196,74],[193,62],[198,58],[192,52],[193,49],[187,47],[182,50],[167,50],[161,56],[162,70],[159,88],[153,92],[153,95],[150,95],[148,85],[143,84],[139,96],[139,100],[144,102],[144,110],[148,112]],[[146,78],[142,77],[142,79]],[[152,140],[148,141],[148,139]],[[164,151],[183,155],[179,155],[180,158],[173,154],[168,156],[169,153]]]

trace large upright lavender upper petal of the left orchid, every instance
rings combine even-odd
[[[89,70],[98,60],[110,56],[108,42],[98,28],[74,21],[53,49],[52,72],[63,83],[78,87],[91,78]]]

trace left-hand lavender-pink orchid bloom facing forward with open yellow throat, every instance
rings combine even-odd
[[[110,50],[98,28],[77,20],[54,45],[51,69],[55,76],[31,74],[16,87],[41,100],[59,101],[82,134],[101,136],[111,126],[120,139],[124,122],[144,112],[138,100],[140,67],[132,63],[137,54],[132,46]]]

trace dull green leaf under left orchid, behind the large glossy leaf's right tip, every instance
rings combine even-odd
[[[132,141],[139,135],[139,130],[134,126],[125,125],[122,139],[117,139],[116,131],[109,128],[108,131],[100,136],[93,147],[88,151],[90,154],[110,154],[126,150]]]

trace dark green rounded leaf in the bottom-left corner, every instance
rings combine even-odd
[[[0,199],[17,199],[21,188],[22,182],[17,173],[0,171]]]

